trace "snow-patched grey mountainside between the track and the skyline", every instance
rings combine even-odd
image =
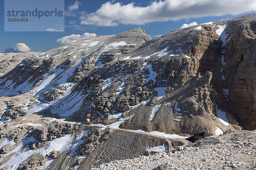
[[[21,107],[30,108],[15,112],[11,106],[4,113],[10,119],[28,111],[89,124],[123,121],[120,127],[125,129],[186,134],[176,125],[193,122],[193,116],[218,116],[217,105],[244,129],[254,129],[253,15],[198,28],[171,31],[154,40],[136,28],[26,57],[0,84],[2,96],[30,95],[33,99]],[[156,105],[164,106],[154,112]],[[180,110],[180,116],[168,111],[164,126],[172,128],[160,125],[166,105]],[[124,120],[114,116],[117,113]],[[204,130],[215,133],[216,126]]]

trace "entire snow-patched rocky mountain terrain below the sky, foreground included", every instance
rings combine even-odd
[[[255,169],[255,47],[250,14],[0,54],[0,170]]]

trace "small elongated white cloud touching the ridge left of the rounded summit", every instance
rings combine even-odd
[[[82,40],[84,38],[96,37],[96,36],[97,35],[95,33],[88,33],[88,32],[84,33],[83,35],[71,34],[69,36],[65,36],[65,37],[59,38],[57,40],[57,42],[60,43],[60,44],[68,44],[68,43],[71,43],[71,42]]]

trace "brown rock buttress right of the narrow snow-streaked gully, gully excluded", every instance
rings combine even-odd
[[[224,48],[227,62],[224,76],[230,90],[227,106],[245,129],[252,130],[256,128],[256,21],[248,22],[246,17],[241,17],[239,23],[233,23],[229,28],[233,28],[233,37]]]

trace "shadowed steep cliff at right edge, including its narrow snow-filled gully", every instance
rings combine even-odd
[[[256,128],[255,110],[255,37],[254,15],[227,20],[223,36],[221,62],[215,62],[213,87],[217,104],[233,114],[244,129]],[[212,71],[213,75],[216,74]],[[224,93],[223,93],[224,92]],[[221,95],[222,94],[222,95]]]

